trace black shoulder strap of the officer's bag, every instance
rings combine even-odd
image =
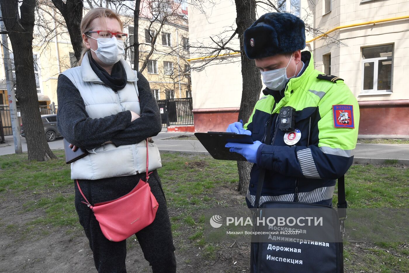
[[[270,121],[267,126],[267,134],[266,134],[266,141],[270,141],[270,130],[271,130],[271,123],[272,123],[272,116],[270,116]],[[260,206],[260,197],[261,197],[261,190],[263,188],[265,177],[265,169],[260,169],[258,172],[258,183],[257,183],[257,193],[256,199],[254,200],[254,208],[258,208]],[[346,208],[348,208],[348,203],[346,202],[345,198],[345,176],[338,178],[338,216],[340,220],[346,219]]]

